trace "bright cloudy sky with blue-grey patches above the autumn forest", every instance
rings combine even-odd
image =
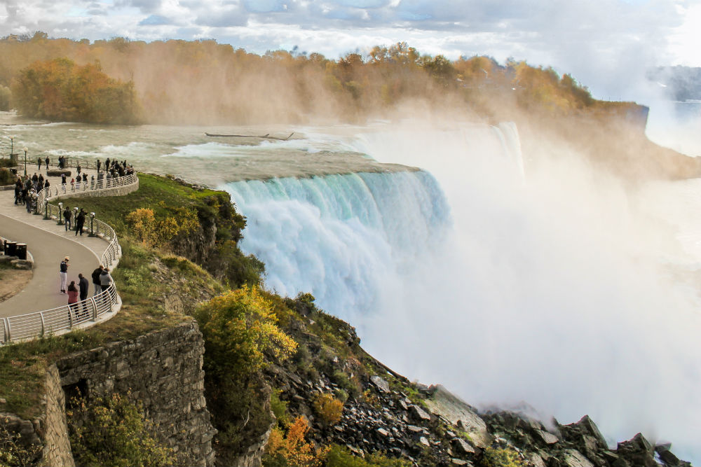
[[[701,0],[0,0],[0,35],[37,30],[330,58],[406,41],[451,59],[552,65],[606,99],[634,98],[646,67],[701,66]]]

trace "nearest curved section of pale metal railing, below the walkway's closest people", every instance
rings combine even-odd
[[[95,322],[103,314],[111,312],[116,302],[117,289],[112,282],[106,290],[71,305],[2,318],[0,342],[7,344],[32,337],[46,337],[71,330],[81,323]]]

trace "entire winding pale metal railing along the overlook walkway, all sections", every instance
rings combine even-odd
[[[49,186],[39,192],[36,200],[36,212],[44,211],[47,218],[55,217],[62,219],[60,207],[48,202],[52,197],[63,195],[64,193],[79,193],[80,191],[88,190],[107,190],[118,186],[131,185],[138,183],[139,178],[136,174],[130,174],[122,177],[111,179],[95,180],[95,183],[80,183],[74,184],[65,183],[57,187]],[[70,190],[70,191],[69,191]],[[107,193],[105,193],[107,195]],[[41,207],[40,207],[41,206]],[[100,261],[104,267],[112,269],[113,263],[120,256],[120,247],[117,235],[114,229],[107,223],[93,218],[91,232],[109,242],[107,249],[102,253]],[[114,281],[109,285],[107,290],[102,291],[98,295],[87,298],[71,305],[63,305],[52,309],[43,310],[41,312],[33,312],[22,314],[19,316],[10,316],[2,318],[0,326],[0,343],[16,342],[20,340],[32,339],[34,337],[43,337],[53,335],[62,331],[73,329],[81,323],[88,321],[95,322],[105,313],[112,311],[112,305],[118,300],[117,289],[114,286]]]

